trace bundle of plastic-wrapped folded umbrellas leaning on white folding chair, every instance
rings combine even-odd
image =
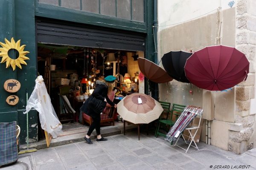
[[[203,109],[201,108],[197,108],[195,106],[186,106],[175,124],[166,134],[166,140],[172,142],[180,135],[180,133],[183,132],[183,130],[185,130],[185,128],[192,122],[193,119],[195,119],[197,115],[201,116],[202,113]]]

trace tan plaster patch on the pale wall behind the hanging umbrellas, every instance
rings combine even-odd
[[[169,51],[189,51],[191,49],[193,52],[206,46],[215,45],[216,19],[217,13],[213,13],[159,31],[158,59],[160,60],[163,54]],[[222,20],[222,45],[235,46],[235,8],[222,11]],[[212,145],[228,150],[229,122],[235,121],[235,88],[216,92],[202,90],[192,85],[193,94],[190,94],[189,83],[173,80],[159,84],[159,94],[161,101],[202,107],[204,119],[216,119],[212,121],[211,127]],[[204,124],[201,134],[202,141],[205,141],[205,132]]]

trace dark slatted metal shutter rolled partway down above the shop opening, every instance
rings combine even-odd
[[[38,19],[36,26],[41,43],[145,51],[142,33],[47,19]]]

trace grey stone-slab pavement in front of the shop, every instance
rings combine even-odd
[[[211,170],[256,168],[256,148],[237,155],[204,142],[187,154],[164,138],[136,131],[109,136],[93,144],[77,142],[20,155],[3,170]],[[181,146],[186,146],[179,141]],[[26,165],[26,166],[25,166]]]

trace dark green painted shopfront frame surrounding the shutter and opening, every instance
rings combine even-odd
[[[147,59],[154,61],[155,48],[152,29],[154,1],[156,0],[144,1],[145,23],[140,23],[38,3],[37,0],[0,0],[0,42],[4,42],[5,38],[10,41],[14,37],[15,41],[21,40],[20,45],[26,45],[25,51],[30,52],[26,55],[29,57],[29,60],[26,60],[27,65],[22,65],[22,69],[16,68],[15,71],[12,71],[11,67],[6,68],[6,63],[0,63],[0,85],[2,86],[0,88],[0,122],[18,122],[18,125],[21,127],[20,144],[26,143],[26,115],[23,114],[26,107],[26,89],[28,90],[28,96],[30,96],[37,77],[36,17],[58,19],[64,22],[72,21],[78,24],[90,24],[146,34],[145,56]],[[21,84],[20,90],[13,94],[5,91],[3,84],[7,79],[17,79]],[[157,99],[157,86],[153,86],[155,92],[152,92],[152,96]],[[145,89],[148,89],[147,81],[145,81]],[[148,93],[148,90],[145,90],[145,93]],[[6,98],[10,95],[17,95],[19,97],[17,105],[11,106],[6,103]],[[29,112],[29,142],[37,141],[38,113],[32,110]]]

